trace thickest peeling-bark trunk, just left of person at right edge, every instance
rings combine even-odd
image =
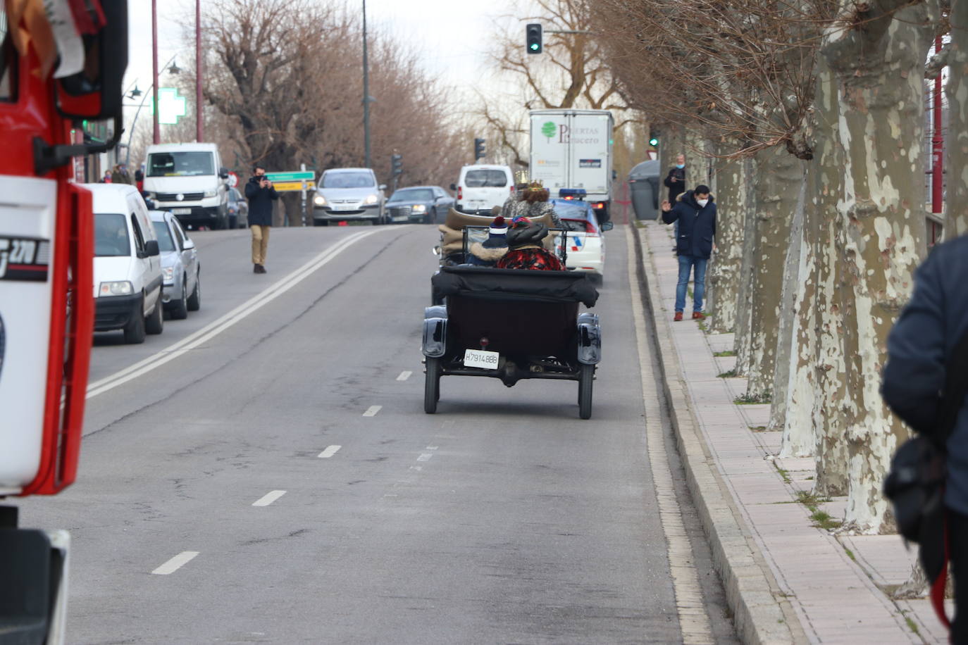
[[[923,68],[936,5],[842,3],[854,28],[830,32],[821,52],[837,80],[844,151],[838,207],[839,315],[849,451],[845,528],[878,533],[881,484],[908,431],[878,392],[885,343],[924,249]],[[889,518],[888,518],[889,519]]]

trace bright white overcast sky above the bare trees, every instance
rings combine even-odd
[[[205,0],[201,0],[202,12]],[[360,0],[349,3],[359,5]],[[390,32],[421,53],[425,67],[455,86],[479,83],[490,73],[486,51],[494,18],[523,5],[514,0],[368,0],[367,17],[379,31]],[[195,3],[191,0],[159,0],[158,65],[184,50],[184,33],[194,27]],[[151,85],[151,2],[129,0],[130,46],[125,87],[146,91]],[[522,35],[522,38],[524,36]],[[179,66],[188,57],[176,57]],[[165,76],[160,85],[165,87]],[[129,103],[131,103],[129,101]],[[193,109],[189,107],[189,109]],[[128,109],[128,120],[136,107]],[[140,119],[148,117],[142,110]]]

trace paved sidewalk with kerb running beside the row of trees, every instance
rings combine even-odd
[[[743,641],[946,642],[926,599],[889,596],[908,579],[914,550],[905,550],[897,536],[838,537],[817,526],[823,513],[842,518],[845,498],[810,495],[812,458],[774,456],[781,432],[766,431],[769,405],[733,402],[745,392],[745,379],[719,378],[736,359],[713,356],[733,349],[733,335],[672,322],[678,268],[671,227],[648,222],[635,232],[673,425],[681,452],[694,453],[683,454],[690,488],[706,511],[704,525]],[[691,298],[687,305],[686,315]],[[697,446],[690,448],[693,438]],[[737,526],[742,543],[731,535]],[[753,577],[750,558],[760,569]]]

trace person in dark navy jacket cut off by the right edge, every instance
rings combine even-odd
[[[935,247],[915,274],[911,301],[888,337],[881,394],[915,432],[937,427],[941,393],[954,347],[968,333],[968,236]],[[968,405],[961,401],[948,439],[945,503],[951,532],[955,613],[952,642],[968,643]],[[968,587],[966,587],[968,588]]]

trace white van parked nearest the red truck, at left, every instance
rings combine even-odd
[[[94,193],[94,331],[125,342],[161,334],[162,259],[148,207],[134,186],[84,184]]]

